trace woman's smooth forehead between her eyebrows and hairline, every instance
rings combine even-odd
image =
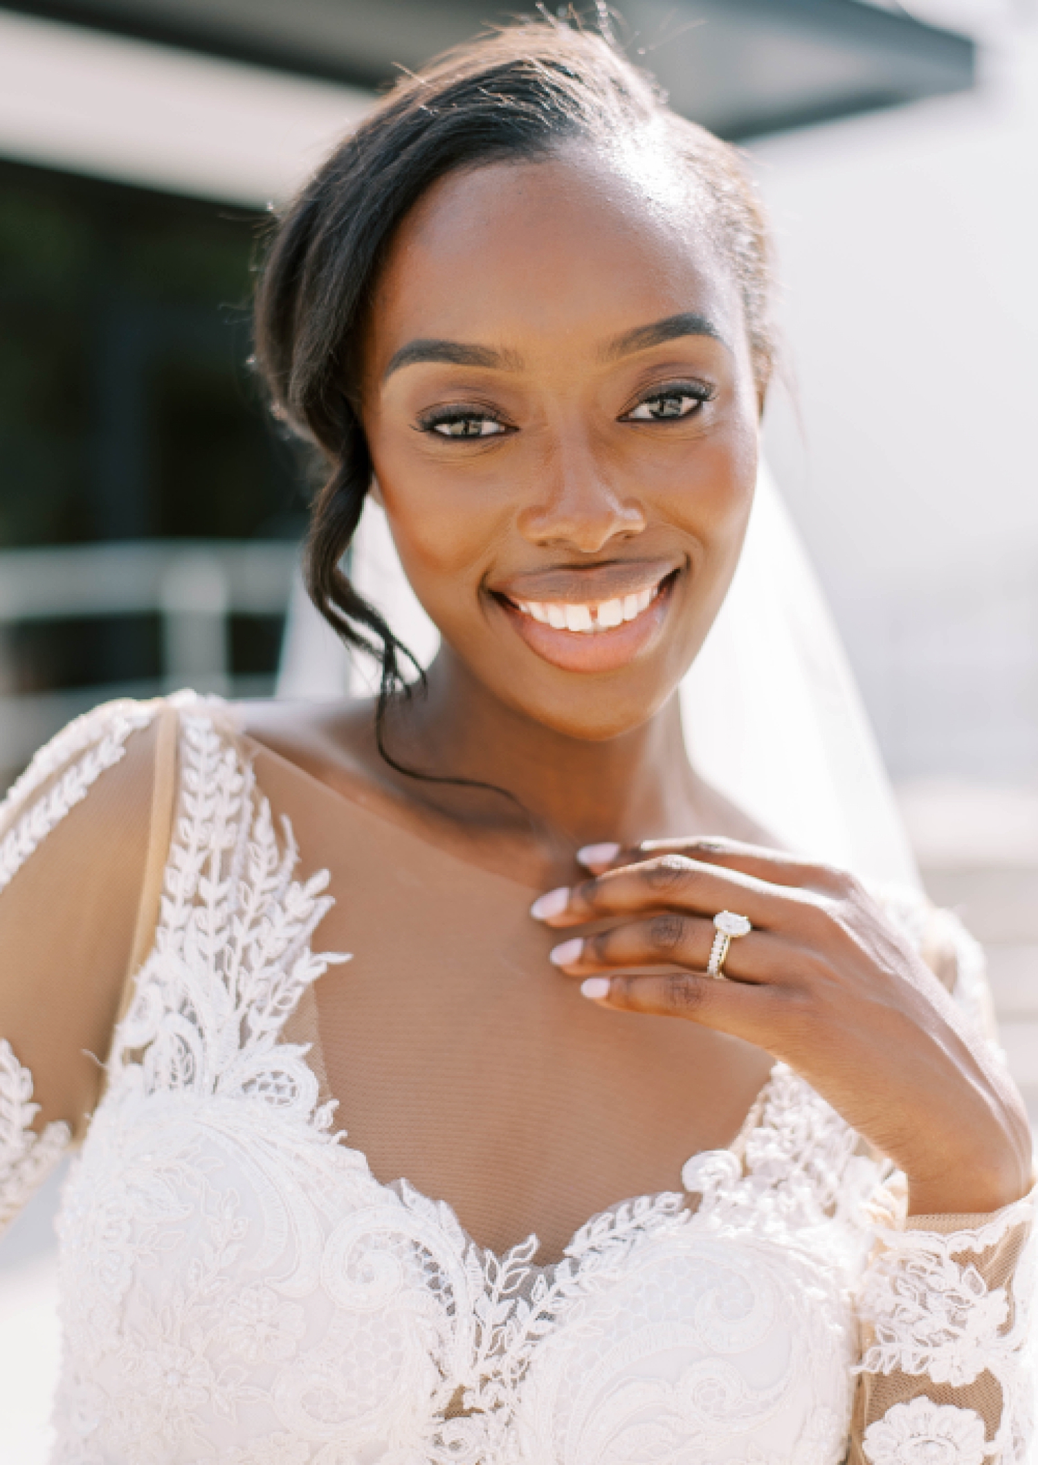
[[[574,149],[433,185],[394,239],[370,330],[388,359],[416,335],[580,347],[685,311],[741,331],[688,180]]]

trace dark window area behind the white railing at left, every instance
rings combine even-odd
[[[244,209],[0,161],[0,552],[299,539],[302,461],[247,365],[261,230]],[[269,690],[281,617],[230,611],[224,684]],[[158,612],[0,623],[0,700],[44,708],[34,728],[167,674]],[[7,741],[0,784],[31,750]]]

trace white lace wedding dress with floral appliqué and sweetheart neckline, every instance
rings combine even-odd
[[[154,705],[73,724],[9,801],[0,888]],[[887,1168],[779,1065],[736,1149],[555,1266],[493,1256],[337,1135],[284,1024],[310,938],[247,759],[179,700],[154,943],[60,1216],[56,1465],[1023,1465],[1029,1198],[899,1217]],[[909,926],[919,902],[892,911]],[[957,996],[982,999],[959,936]],[[0,1217],[59,1159],[0,1043]]]

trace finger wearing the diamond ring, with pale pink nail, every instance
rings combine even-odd
[[[624,967],[675,965],[706,971],[714,936],[713,921],[665,911],[593,936],[572,936],[555,946],[550,960],[571,977]],[[729,945],[723,974],[736,982],[769,982],[777,973],[788,974],[794,961],[788,942],[767,932],[751,932]]]

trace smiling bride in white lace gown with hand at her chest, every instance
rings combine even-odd
[[[382,686],[113,703],[4,806],[0,1216],[78,1147],[56,1465],[1029,1458],[978,951],[685,752],[767,258],[735,152],[548,21],[277,224],[309,590]],[[427,675],[343,568],[369,495]]]

